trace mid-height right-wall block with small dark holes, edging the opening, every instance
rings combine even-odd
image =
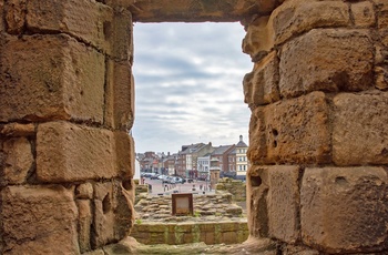
[[[257,116],[253,122],[262,120],[251,126],[251,162],[330,162],[329,112],[323,92],[269,104],[253,114]]]

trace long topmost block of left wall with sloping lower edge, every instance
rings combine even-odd
[[[110,52],[108,34],[113,10],[90,0],[27,1],[27,29],[33,32],[62,32]]]

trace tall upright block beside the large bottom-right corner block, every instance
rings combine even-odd
[[[285,243],[296,243],[299,236],[299,167],[268,167],[269,236]]]

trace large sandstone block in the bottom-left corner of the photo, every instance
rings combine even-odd
[[[72,191],[8,186],[1,201],[3,254],[80,254]]]

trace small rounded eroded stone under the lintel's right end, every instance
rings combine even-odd
[[[274,48],[273,29],[268,26],[269,17],[261,17],[247,27],[243,40],[243,52],[251,55],[252,61],[262,60]]]

